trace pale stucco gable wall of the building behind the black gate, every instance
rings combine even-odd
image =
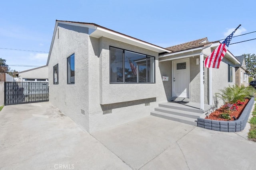
[[[22,80],[22,78],[48,79],[48,66],[21,72],[19,73],[19,80]]]

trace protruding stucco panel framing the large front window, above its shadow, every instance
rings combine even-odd
[[[134,51],[137,53],[142,53],[150,56],[156,57],[158,60],[158,53],[154,51],[149,51],[146,49],[142,49],[133,45],[124,44],[118,41],[113,41],[111,39],[102,37],[100,41],[100,45],[102,46],[102,51],[100,54],[101,57],[101,72],[100,79],[102,80],[101,84],[101,99],[100,104],[112,104],[118,102],[128,102],[133,100],[140,100],[146,98],[155,98],[158,97],[157,92],[157,84],[158,83],[138,83],[138,84],[110,84],[109,79],[109,47],[118,47],[122,49],[126,49],[129,51]],[[156,68],[158,68],[158,64],[155,62]],[[156,71],[156,82],[159,80],[159,69]]]

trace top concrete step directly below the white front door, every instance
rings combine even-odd
[[[176,104],[176,103],[172,103],[172,102],[160,103],[158,106],[159,107],[166,107],[166,108],[170,108],[170,109],[176,109],[176,110],[191,111],[191,112],[194,112],[194,113],[203,113],[203,111],[198,109],[198,108],[194,108],[194,107],[191,107],[191,106],[186,106],[186,105],[183,105],[183,104]]]

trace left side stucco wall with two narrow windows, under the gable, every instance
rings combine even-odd
[[[88,29],[58,25],[58,34],[48,64],[49,100],[78,125],[89,131]],[[75,54],[75,84],[67,84],[67,57]],[[53,66],[58,64],[59,84],[53,84]]]

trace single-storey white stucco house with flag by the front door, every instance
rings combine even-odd
[[[203,67],[219,44],[203,38],[163,48],[94,23],[56,20],[49,101],[88,132],[161,117],[156,108],[171,100],[198,104],[203,114],[219,89],[235,83],[238,60],[229,51],[219,69]]]

